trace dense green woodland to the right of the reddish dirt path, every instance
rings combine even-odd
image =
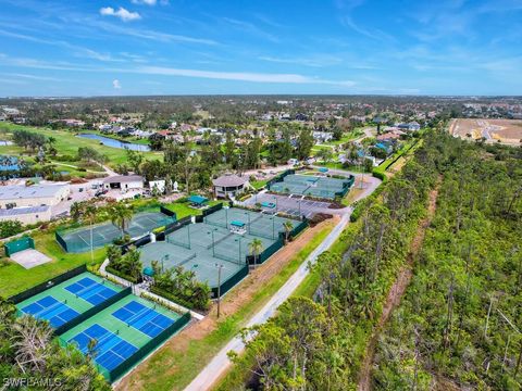
[[[378,342],[374,389],[520,390],[520,150],[457,140],[440,150],[437,212]]]

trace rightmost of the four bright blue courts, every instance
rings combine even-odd
[[[171,326],[174,320],[158,313],[154,308],[150,308],[137,301],[132,301],[125,306],[112,313],[112,316],[124,321],[127,326],[153,338],[161,331]]]

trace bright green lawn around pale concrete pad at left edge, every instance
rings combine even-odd
[[[11,297],[76,266],[91,263],[90,252],[73,254],[63,251],[54,239],[53,231],[36,232],[30,237],[35,239],[36,250],[52,261],[32,269],[25,269],[15,262],[0,266],[0,297]],[[105,257],[105,249],[97,249],[94,253],[95,264],[101,264]]]

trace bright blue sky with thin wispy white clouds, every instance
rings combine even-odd
[[[0,97],[522,94],[522,0],[0,0]]]

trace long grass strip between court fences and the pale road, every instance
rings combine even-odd
[[[295,255],[281,273],[263,286],[243,307],[222,320],[217,328],[201,340],[189,343],[184,352],[172,352],[163,349],[157,352],[147,365],[139,371],[140,383],[147,384],[147,390],[182,390],[184,389],[210,360],[245,327],[259,308],[287,281],[308,255],[326,238],[333,225],[320,230],[304,248]],[[238,287],[240,289],[240,286]],[[234,290],[228,294],[234,294]],[[172,371],[172,367],[177,368]]]

